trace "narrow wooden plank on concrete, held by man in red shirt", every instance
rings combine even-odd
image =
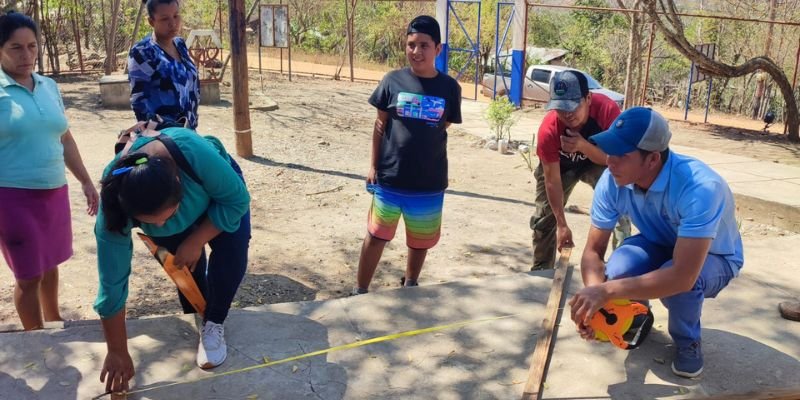
[[[528,382],[525,384],[522,400],[538,400],[541,397],[542,383],[544,382],[547,363],[550,360],[553,333],[558,319],[558,309],[561,305],[561,297],[564,294],[567,272],[572,268],[569,265],[571,254],[572,248],[561,249],[561,256],[558,259],[555,274],[553,275],[553,286],[550,288],[550,297],[547,299],[545,317],[542,320],[542,329],[536,338],[536,348],[533,350],[531,368],[528,370]]]

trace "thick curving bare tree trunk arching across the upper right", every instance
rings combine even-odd
[[[780,88],[786,102],[789,140],[800,142],[800,119],[798,119],[797,101],[792,91],[792,85],[783,70],[769,57],[755,57],[741,65],[728,65],[712,60],[697,51],[686,39],[683,23],[677,15],[673,0],[647,0],[645,10],[664,35],[664,39],[678,52],[692,60],[701,71],[720,77],[739,77],[758,70],[769,74]],[[658,14],[659,12],[664,13],[663,17]]]

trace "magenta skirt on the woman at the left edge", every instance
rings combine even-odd
[[[15,278],[39,277],[72,256],[67,185],[0,188],[0,204],[0,250]]]

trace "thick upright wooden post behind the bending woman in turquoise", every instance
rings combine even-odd
[[[228,0],[228,30],[231,35],[231,67],[233,81],[233,129],[236,135],[236,154],[253,156],[253,137],[250,129],[250,95],[247,76],[247,38],[245,37],[244,0]]]

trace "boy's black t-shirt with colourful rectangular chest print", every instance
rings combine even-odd
[[[447,122],[461,123],[461,87],[452,77],[389,72],[369,98],[389,113],[377,166],[378,184],[397,189],[447,188]]]

